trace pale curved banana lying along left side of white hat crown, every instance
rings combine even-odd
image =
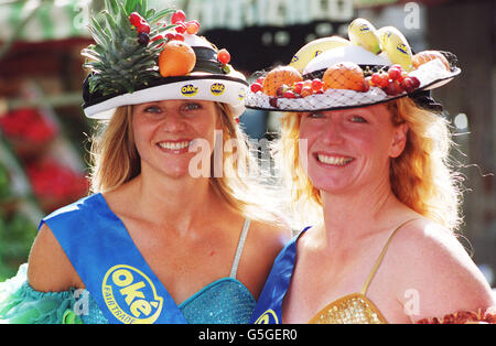
[[[302,46],[296,52],[296,54],[294,54],[289,65],[293,66],[300,73],[302,73],[306,64],[309,64],[309,62],[319,54],[345,45],[352,45],[352,43],[348,40],[339,36],[330,36],[314,40]]]

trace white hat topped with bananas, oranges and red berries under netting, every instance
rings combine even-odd
[[[376,30],[362,18],[349,24],[348,36],[312,41],[296,52],[289,65],[258,74],[246,106],[314,111],[364,107],[409,96],[421,107],[442,109],[430,97],[430,89],[460,74],[453,54],[412,54],[398,29]]]

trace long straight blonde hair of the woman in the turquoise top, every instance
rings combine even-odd
[[[227,105],[216,102],[223,130],[223,149],[230,141],[233,150],[223,150],[223,174],[211,172],[214,191],[245,217],[278,223],[282,219],[273,204],[274,197],[260,181],[259,166],[250,153],[247,136],[236,123]],[[91,139],[90,191],[104,193],[115,190],[141,172],[140,155],[134,145],[131,127],[132,106],[116,109],[110,121],[99,123]],[[214,163],[211,158],[211,171]],[[245,174],[249,172],[249,174]]]

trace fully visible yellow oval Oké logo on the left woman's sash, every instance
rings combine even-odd
[[[163,307],[151,280],[140,270],[118,264],[105,274],[101,293],[112,315],[125,324],[153,323]]]

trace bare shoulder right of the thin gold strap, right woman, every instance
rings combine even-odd
[[[489,284],[456,236],[429,219],[403,226],[387,256],[395,262],[398,300],[407,303],[405,292],[413,290],[419,299],[412,321],[495,304]]]

